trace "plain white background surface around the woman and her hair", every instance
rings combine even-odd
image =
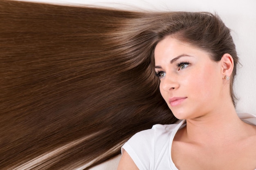
[[[256,0],[27,0],[57,4],[89,4],[153,11],[209,11],[231,28],[241,66],[235,81],[238,112],[256,115]],[[118,161],[119,158],[116,159]],[[94,170],[116,169],[113,161]]]

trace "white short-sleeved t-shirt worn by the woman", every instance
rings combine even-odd
[[[256,125],[256,116],[238,113],[241,120]],[[171,146],[177,131],[186,125],[185,120],[175,124],[155,124],[152,129],[133,135],[121,148],[126,150],[139,170],[178,170],[171,158]]]

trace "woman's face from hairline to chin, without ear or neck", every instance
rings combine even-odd
[[[176,118],[198,118],[220,105],[221,65],[204,50],[166,37],[155,48],[155,71],[162,97]]]

